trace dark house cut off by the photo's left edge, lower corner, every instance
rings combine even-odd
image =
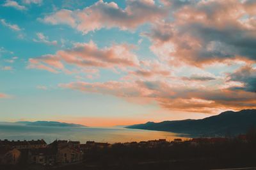
[[[0,147],[0,164],[17,164],[20,158],[20,151],[9,146]]]

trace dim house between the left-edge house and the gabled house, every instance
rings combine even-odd
[[[55,164],[56,150],[52,148],[36,148],[29,150],[29,164]]]

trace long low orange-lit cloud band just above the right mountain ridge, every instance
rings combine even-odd
[[[113,95],[128,98],[128,100],[129,98],[140,98],[140,100],[156,101],[164,109],[178,111],[212,113],[216,109],[256,108],[256,93],[243,90],[232,91],[232,89],[176,86],[163,81],[70,82],[60,84],[60,87],[76,89],[86,93]]]

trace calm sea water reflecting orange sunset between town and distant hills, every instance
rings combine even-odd
[[[127,128],[64,128],[64,127],[29,127],[24,125],[0,125],[0,139],[31,140],[44,139],[51,143],[56,139],[72,141],[125,143],[131,141],[148,141],[166,139],[172,141],[179,134],[157,132],[152,130],[136,130]],[[179,137],[186,139],[184,137]]]

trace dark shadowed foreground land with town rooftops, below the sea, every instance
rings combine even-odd
[[[236,137],[188,141],[95,143],[0,141],[0,169],[227,169],[256,167],[256,130]]]

